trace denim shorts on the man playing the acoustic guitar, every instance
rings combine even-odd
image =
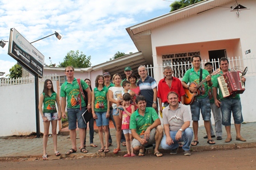
[[[210,105],[209,97],[196,98],[195,101],[190,105],[192,121],[199,121],[200,109],[201,109],[203,121],[210,121],[211,105]]]

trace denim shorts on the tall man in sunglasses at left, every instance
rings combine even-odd
[[[86,128],[85,121],[83,121],[82,114],[85,112],[86,107],[78,109],[67,109],[67,118],[69,120],[69,130],[74,130],[77,128]]]

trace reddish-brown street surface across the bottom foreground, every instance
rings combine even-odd
[[[256,169],[256,148],[192,152],[183,156],[104,157],[75,160],[3,161],[0,169]]]

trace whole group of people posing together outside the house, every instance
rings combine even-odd
[[[159,83],[153,77],[147,75],[145,66],[138,67],[137,78],[130,67],[125,68],[126,78],[122,80],[120,74],[113,75],[113,83],[110,82],[111,75],[108,72],[98,75],[95,79],[95,88],[85,81],[81,80],[81,87],[85,90],[86,100],[81,96],[77,78],[74,77],[74,68],[66,67],[65,73],[67,80],[61,86],[61,105],[59,99],[53,90],[51,80],[45,81],[45,87],[39,100],[39,110],[45,126],[43,135],[43,159],[47,159],[46,145],[49,133],[50,122],[53,128],[54,152],[57,151],[56,127],[57,120],[68,117],[70,139],[72,147],[66,154],[77,152],[76,132],[79,128],[80,151],[87,153],[85,148],[86,123],[83,121],[82,113],[86,109],[93,114],[92,124],[95,119],[99,129],[99,139],[101,149],[98,152],[109,152],[109,146],[112,143],[109,131],[109,119],[111,118],[116,128],[117,148],[114,148],[114,154],[117,154],[125,140],[127,154],[124,157],[145,155],[145,146],[154,144],[154,155],[163,156],[159,152],[159,146],[164,150],[170,150],[170,154],[177,154],[179,147],[182,147],[184,155],[191,155],[190,146],[197,146],[198,142],[198,121],[200,112],[205,124],[207,143],[215,144],[213,128],[211,127],[211,110],[214,115],[215,132],[217,140],[222,140],[222,125],[225,126],[227,138],[225,142],[232,140],[230,126],[231,113],[233,113],[235,130],[237,132],[236,140],[246,141],[240,133],[242,118],[242,107],[239,94],[223,98],[217,77],[226,74],[229,71],[229,61],[226,58],[219,60],[221,72],[212,76],[213,64],[206,63],[205,69],[201,68],[201,57],[194,55],[191,57],[193,68],[186,71],[182,81],[173,77],[173,69],[165,67],[163,69],[164,78]],[[242,81],[246,79],[242,77]],[[191,82],[201,86],[192,86]],[[185,90],[197,96],[194,102],[190,104],[189,109],[184,105],[187,97]],[[71,99],[78,96],[79,101],[76,105],[71,104]],[[158,102],[157,102],[158,99]],[[67,102],[67,115],[65,113]],[[55,106],[57,110],[47,110],[47,105]],[[43,105],[43,110],[42,110]],[[99,107],[100,105],[100,107]],[[56,107],[54,107],[56,108]],[[158,117],[158,108],[162,112],[162,122]],[[193,130],[189,128],[192,118]],[[90,123],[91,123],[90,122]],[[91,135],[90,126],[90,135]],[[165,135],[163,135],[165,132]],[[194,140],[193,140],[194,134]],[[105,144],[103,137],[105,135]],[[192,141],[193,140],[193,141]],[[181,143],[183,142],[183,143]],[[93,144],[93,137],[90,137],[90,144]]]

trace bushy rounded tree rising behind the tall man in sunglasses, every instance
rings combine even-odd
[[[87,68],[91,67],[91,56],[86,57],[86,55],[79,53],[77,50],[76,52],[70,51],[64,58],[62,63],[59,63],[59,67],[67,67],[69,65],[77,68]]]

